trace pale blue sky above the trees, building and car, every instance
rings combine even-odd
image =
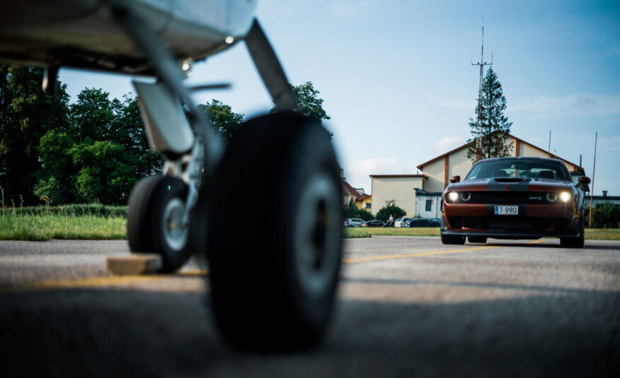
[[[411,174],[470,137],[485,60],[503,85],[511,134],[582,165],[595,194],[620,195],[619,1],[259,1],[257,17],[289,81],[312,81],[331,116],[354,187],[369,175]],[[63,69],[72,100],[85,87],[120,98],[130,79]],[[247,117],[272,107],[243,43],[195,64],[190,83]],[[248,183],[251,184],[251,183]]]

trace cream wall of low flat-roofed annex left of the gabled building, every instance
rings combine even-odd
[[[396,206],[415,216],[415,188],[422,188],[423,177],[372,177],[372,213],[394,199]]]

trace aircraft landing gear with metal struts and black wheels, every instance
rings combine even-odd
[[[342,183],[328,134],[297,112],[256,19],[244,40],[278,112],[246,122],[226,146],[158,33],[130,8],[115,16],[158,78],[134,82],[149,143],[167,157],[184,156],[166,161],[165,178],[134,189],[127,220],[132,250],[156,249],[163,271],[175,271],[192,252],[206,254],[214,318],[231,345],[263,351],[316,345],[333,313],[342,259]],[[187,237],[176,228],[181,213]]]

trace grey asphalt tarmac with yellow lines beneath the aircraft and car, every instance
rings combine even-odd
[[[126,242],[0,242],[0,376],[620,376],[620,242],[345,246],[326,341],[255,355],[217,335],[197,261],[115,277]]]

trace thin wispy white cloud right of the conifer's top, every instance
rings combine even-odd
[[[542,118],[615,116],[620,115],[620,96],[582,93],[564,97],[537,97],[509,103],[508,109]]]

